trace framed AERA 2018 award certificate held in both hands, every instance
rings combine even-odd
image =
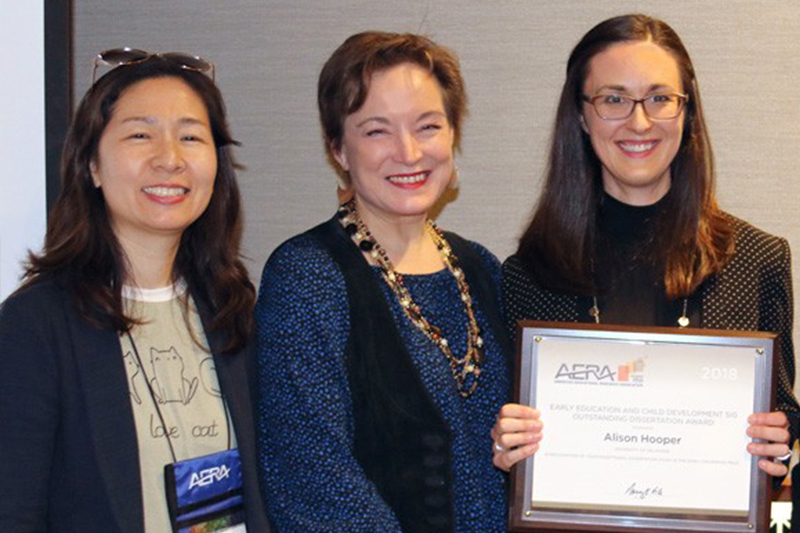
[[[517,531],[769,531],[747,417],[775,335],[522,322],[518,401],[544,422],[514,468]]]

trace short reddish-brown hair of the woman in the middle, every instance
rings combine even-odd
[[[367,100],[372,75],[401,63],[427,69],[442,89],[445,114],[453,128],[453,144],[461,143],[461,125],[467,113],[467,93],[456,55],[427,37],[413,33],[369,31],[348,37],[319,75],[317,104],[328,160],[342,147],[344,120]],[[347,181],[347,176],[340,176]]]

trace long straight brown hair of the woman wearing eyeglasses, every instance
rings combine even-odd
[[[719,272],[733,251],[733,230],[714,197],[714,161],[692,60],[678,34],[645,15],[623,15],[592,28],[575,46],[556,112],[544,190],[517,254],[534,278],[559,291],[591,294],[591,263],[602,194],[601,163],[581,127],[589,63],[610,46],[651,41],[671,54],[684,92],[681,146],[671,188],[656,221],[653,260],[664,265],[670,299],[687,297]]]

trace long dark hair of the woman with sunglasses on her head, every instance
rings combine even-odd
[[[90,164],[125,90],[163,77],[182,80],[203,101],[217,151],[211,201],[183,232],[172,277],[183,279],[189,292],[210,307],[207,326],[223,332],[225,351],[233,351],[250,336],[255,302],[255,289],[239,253],[241,199],[230,151],[238,143],[231,137],[222,95],[213,81],[159,56],[115,68],[81,100],[62,154],[61,194],[48,218],[44,249],[29,255],[25,284],[63,280],[81,314],[97,327],[122,332],[137,323],[124,312],[122,286],[130,282],[129,264],[112,230],[103,193],[92,182]]]

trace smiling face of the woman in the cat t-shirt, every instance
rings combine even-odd
[[[91,170],[118,238],[179,238],[208,206],[217,174],[216,147],[200,96],[172,77],[125,89]]]

